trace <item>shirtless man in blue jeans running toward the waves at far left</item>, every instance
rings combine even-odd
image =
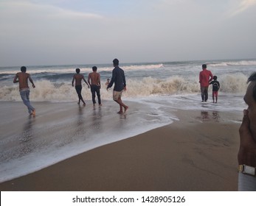
[[[33,88],[35,88],[35,85],[32,78],[30,77],[30,74],[28,74],[26,71],[27,68],[25,66],[21,66],[21,72],[18,72],[15,75],[13,83],[19,83],[21,99],[23,103],[27,106],[30,115],[35,116],[35,108],[32,107],[32,105],[30,104],[30,88],[27,79],[30,79]]]

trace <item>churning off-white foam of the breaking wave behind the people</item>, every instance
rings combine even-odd
[[[244,74],[225,74],[218,80],[221,84],[220,92],[243,93],[246,91],[246,79]],[[55,83],[49,80],[35,82],[35,88],[30,88],[30,99],[35,102],[69,102],[77,99],[75,88],[70,82]],[[211,90],[211,86],[210,86]],[[157,96],[173,94],[199,93],[200,86],[197,78],[184,79],[173,76],[167,79],[145,77],[142,79],[128,79],[125,97]],[[111,90],[105,90],[105,85],[100,90],[102,99],[111,99]],[[91,99],[91,90],[84,85],[82,94],[84,99]],[[4,85],[0,89],[1,101],[20,101],[18,85]]]

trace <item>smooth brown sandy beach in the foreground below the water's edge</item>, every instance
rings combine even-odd
[[[242,116],[200,110],[176,116],[173,124],[1,182],[0,190],[237,191]]]

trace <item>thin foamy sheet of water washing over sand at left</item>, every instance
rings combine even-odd
[[[125,102],[129,105],[126,116],[119,116],[117,104],[104,102],[100,109],[77,107],[72,103],[35,104],[36,118],[24,118],[15,102],[10,106],[1,102],[1,113],[13,119],[12,131],[1,122],[4,134],[0,140],[0,182],[13,179],[50,166],[75,154],[88,151],[114,141],[170,124],[175,119],[172,111],[151,102]],[[91,106],[91,105],[90,105]],[[4,110],[6,108],[7,110]],[[10,124],[9,124],[10,125]]]

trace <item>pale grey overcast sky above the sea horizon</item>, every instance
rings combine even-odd
[[[256,0],[0,0],[0,66],[256,57]]]

